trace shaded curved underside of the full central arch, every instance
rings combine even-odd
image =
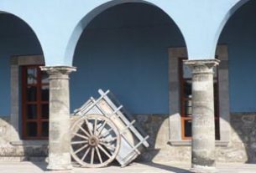
[[[114,1],[108,1],[107,3],[102,3],[101,5],[92,9],[90,13],[87,13],[86,16],[81,18],[79,23],[76,24],[76,27],[73,29],[71,33],[71,37],[69,38],[69,41],[65,48],[65,64],[70,64],[70,65],[73,64],[76,45],[78,43],[79,38],[81,37],[81,33],[83,33],[84,29],[93,20],[93,18],[97,17],[97,15],[107,10],[108,8],[112,8],[114,6],[117,6],[123,3],[145,3],[148,5],[154,6],[155,8],[159,8],[159,6],[157,6],[156,4],[150,3],[149,1],[145,1],[145,0],[114,0]],[[176,23],[175,19],[172,18],[170,14],[165,12],[165,10],[163,10],[162,8],[159,8],[159,9],[163,13],[165,13],[167,16],[169,16],[170,20],[172,20],[175,23],[176,27],[179,29],[182,35],[182,38],[185,40],[184,34],[181,32],[181,29]]]

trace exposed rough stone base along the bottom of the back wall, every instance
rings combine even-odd
[[[72,116],[71,122],[80,118]],[[169,144],[169,115],[139,114],[135,115],[142,128],[150,136],[150,148],[145,150],[138,160],[154,161],[191,161],[191,146]],[[4,120],[8,120],[5,118]],[[0,122],[3,122],[3,120]],[[4,126],[8,126],[7,121]],[[72,123],[71,123],[72,124]],[[0,123],[0,126],[3,124]],[[256,114],[231,114],[231,141],[227,147],[216,147],[216,159],[219,162],[256,163]],[[9,129],[9,128],[7,128]],[[48,155],[47,145],[11,145],[8,136],[0,148],[0,162],[23,161],[45,158]]]

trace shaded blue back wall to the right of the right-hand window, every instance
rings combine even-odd
[[[229,49],[229,92],[232,112],[256,112],[256,1],[238,9],[219,43]]]

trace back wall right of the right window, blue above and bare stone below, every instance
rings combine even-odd
[[[245,4],[229,18],[218,44],[228,48],[228,62],[223,63],[227,64],[229,74],[231,151],[232,155],[239,155],[232,161],[255,163],[256,2],[241,3]]]

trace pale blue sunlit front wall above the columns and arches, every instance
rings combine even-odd
[[[24,18],[37,33],[47,65],[72,65],[76,43],[91,18],[124,2],[150,3],[168,13],[185,36],[190,59],[214,59],[222,25],[248,0],[1,0],[0,11]],[[239,3],[240,2],[240,3]],[[200,39],[198,39],[200,38]]]

